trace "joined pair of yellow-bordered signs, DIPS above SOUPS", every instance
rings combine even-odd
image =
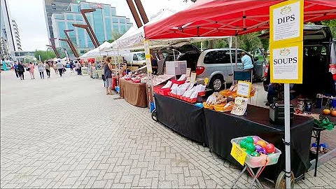
[[[302,83],[303,0],[269,7],[271,83]]]

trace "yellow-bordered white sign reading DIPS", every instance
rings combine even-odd
[[[303,0],[290,0],[269,6],[269,43],[303,40]]]

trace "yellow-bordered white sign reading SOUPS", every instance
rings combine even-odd
[[[270,46],[271,83],[302,83],[303,42]]]

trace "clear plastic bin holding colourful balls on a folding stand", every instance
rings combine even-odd
[[[250,137],[257,137],[258,139],[260,139],[260,137],[258,136],[250,136]],[[231,139],[231,144],[235,142],[239,146],[240,141],[244,139],[246,139],[246,137],[239,137],[239,138]],[[260,140],[265,141],[263,139],[260,139]],[[266,144],[268,144],[267,141],[265,142]],[[280,155],[281,155],[281,151],[278,148],[275,148],[274,153],[270,153],[268,155],[259,156],[259,157],[253,157],[252,155],[249,155],[246,153],[245,163],[251,168],[263,167],[265,165],[266,160],[267,160],[266,165],[274,165],[278,162]]]

